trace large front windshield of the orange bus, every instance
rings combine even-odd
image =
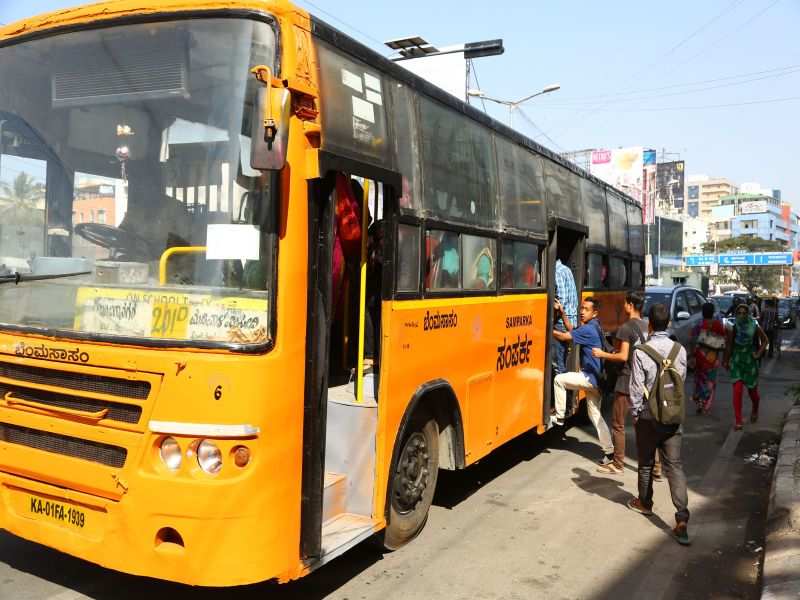
[[[274,62],[243,19],[0,48],[0,328],[268,342],[277,179],[250,167],[249,70]]]

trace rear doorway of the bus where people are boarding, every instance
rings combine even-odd
[[[572,271],[575,279],[576,293],[578,303],[580,304],[581,293],[583,291],[583,273],[585,272],[585,247],[588,229],[585,225],[580,223],[573,223],[561,218],[552,218],[549,223],[548,232],[548,248],[547,248],[547,274],[549,290],[549,306],[548,306],[548,319],[551,323],[555,322],[553,313],[553,303],[556,299],[556,286],[555,286],[555,265],[556,260],[561,259],[561,262],[567,265]],[[553,365],[553,344],[552,336],[548,336],[548,350],[550,360],[546,361],[547,376],[545,381],[549,381],[550,385],[545,389],[545,406],[553,407],[553,386],[552,382],[555,378],[555,369]],[[567,355],[567,371],[576,371],[579,368],[578,352],[574,348],[570,348]],[[570,392],[571,393],[571,392]],[[573,400],[574,401],[574,400]]]

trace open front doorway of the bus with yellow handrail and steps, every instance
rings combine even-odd
[[[301,551],[318,564],[373,533],[390,189],[341,171],[312,184]]]

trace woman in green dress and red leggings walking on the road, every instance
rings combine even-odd
[[[737,431],[742,428],[742,393],[744,388],[750,394],[753,410],[750,422],[758,421],[758,370],[759,360],[767,349],[767,336],[745,304],[736,307],[735,324],[728,332],[725,347],[725,368],[730,370],[733,383],[733,410],[736,413]]]

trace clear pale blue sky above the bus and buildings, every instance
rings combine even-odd
[[[74,4],[0,0],[0,22]],[[689,176],[778,188],[800,211],[800,146],[790,143],[800,140],[800,0],[298,4],[385,55],[385,40],[408,35],[436,46],[502,38],[505,54],[474,62],[472,87],[518,100],[559,83],[515,118],[538,142],[663,150]],[[486,109],[507,120],[503,107]]]

